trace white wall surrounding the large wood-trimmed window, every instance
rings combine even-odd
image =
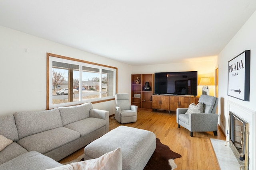
[[[0,115],[46,109],[46,53],[118,68],[118,92],[130,93],[132,66],[0,26]],[[122,84],[122,86],[120,85]],[[114,114],[115,101],[94,104]]]

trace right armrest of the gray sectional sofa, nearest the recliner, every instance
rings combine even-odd
[[[109,111],[100,110],[100,109],[90,109],[89,113],[90,113],[90,117],[106,120],[105,133],[108,133],[108,130],[109,130]]]

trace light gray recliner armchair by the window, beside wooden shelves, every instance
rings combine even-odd
[[[128,93],[116,94],[115,118],[120,123],[137,121],[138,106],[131,105]]]

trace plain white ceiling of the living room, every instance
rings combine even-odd
[[[0,0],[0,25],[131,65],[220,53],[256,0]]]

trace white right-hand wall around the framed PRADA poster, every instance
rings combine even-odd
[[[226,45],[226,47],[221,51],[218,55],[218,68],[219,68],[219,92],[218,96],[220,102],[218,104],[218,114],[220,115],[220,120],[224,120],[224,122],[219,122],[221,128],[224,132],[227,132],[228,128],[228,103],[234,102],[239,106],[246,107],[248,109],[256,111],[256,12],[250,17],[250,19],[243,25],[243,27],[238,31],[238,33],[233,37],[233,39]],[[227,88],[228,88],[228,61],[239,55],[245,50],[251,51],[250,57],[250,101],[244,102],[242,100],[232,98],[228,96]],[[255,115],[252,115],[252,121],[254,123],[250,123],[250,141],[254,141],[254,143],[249,143],[249,157],[250,164],[249,169],[255,169],[255,150],[252,147],[255,147]],[[251,133],[252,132],[252,133]],[[253,139],[252,139],[253,138]],[[253,165],[252,165],[253,164]],[[254,166],[254,167],[250,167]]]

